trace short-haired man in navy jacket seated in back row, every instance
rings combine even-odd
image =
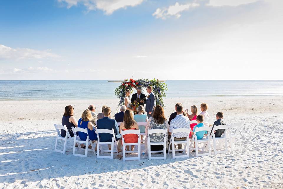
[[[119,133],[117,121],[110,118],[110,113],[111,113],[110,107],[105,107],[103,109],[104,117],[102,119],[97,120],[97,128],[98,129],[110,129],[110,130],[114,129],[115,138],[116,138],[116,141],[118,141],[121,139],[121,134]],[[100,133],[99,137],[100,137],[100,142],[111,142],[113,134]],[[119,144],[120,143],[121,142],[119,141]],[[120,145],[119,144],[118,144],[118,149],[120,149],[119,147],[121,147],[121,144]],[[111,150],[111,147],[109,147],[109,150]]]

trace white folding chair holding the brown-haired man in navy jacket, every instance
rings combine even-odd
[[[100,133],[109,133],[112,134],[112,141],[111,142],[101,142],[100,141],[100,137],[99,134]],[[110,158],[113,159],[113,154],[114,152],[116,152],[118,154],[118,149],[117,149],[117,143],[116,143],[116,138],[115,138],[115,133],[114,133],[114,129],[110,130],[110,129],[96,129],[96,134],[97,134],[97,153],[96,153],[96,157],[97,158]],[[111,145],[111,150],[105,150],[102,149],[102,145]],[[116,147],[116,150],[114,150],[114,144]],[[101,155],[99,155],[99,149],[101,151]],[[111,152],[110,156],[104,156],[103,152]]]

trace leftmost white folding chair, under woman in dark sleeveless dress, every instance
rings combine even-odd
[[[65,154],[65,152],[66,152],[66,147],[67,147],[67,141],[70,141],[70,146],[68,146],[68,147],[73,148],[73,141],[72,141],[72,140],[74,139],[74,137],[71,137],[71,136],[70,136],[70,133],[69,133],[69,131],[68,131],[68,129],[67,129],[67,127],[66,127],[65,125],[62,126],[62,125],[60,125],[60,124],[54,124],[54,127],[55,127],[55,129],[56,129],[56,131],[57,131],[57,136],[56,136],[56,142],[55,142],[55,149],[54,149],[54,151],[60,152],[60,153],[62,153],[62,154]],[[64,130],[66,131],[66,136],[65,136],[65,137],[62,137],[62,136],[61,136],[61,132],[59,131],[59,129],[64,129]],[[58,139],[64,140],[64,147],[63,147],[63,150],[57,149],[57,142],[58,142]]]

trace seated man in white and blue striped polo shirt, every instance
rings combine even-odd
[[[173,128],[177,129],[177,128],[189,128],[190,129],[190,119],[187,116],[183,115],[183,107],[182,106],[177,106],[176,108],[176,118],[172,119],[170,122],[170,128],[169,128],[169,137],[168,140],[170,142],[170,138],[171,138],[171,133]],[[173,137],[175,141],[184,141],[186,140],[186,136],[188,135],[188,133],[174,133]],[[172,144],[170,146],[170,149],[172,149]],[[182,149],[182,144],[178,144],[178,149]],[[180,153],[182,153],[182,151],[179,151]]]

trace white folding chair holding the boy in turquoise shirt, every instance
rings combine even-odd
[[[208,134],[207,134],[206,137],[203,137],[202,139],[197,139],[196,133],[199,132],[199,131],[207,131]],[[190,144],[189,151],[195,150],[195,156],[196,157],[211,155],[211,151],[210,151],[210,136],[209,136],[210,132],[211,132],[211,128],[210,127],[203,126],[203,127],[195,128],[194,135],[192,136],[192,138],[190,138],[192,141],[191,141],[191,144]],[[192,148],[192,144],[194,142],[195,142],[195,148]],[[202,152],[203,153],[201,153],[201,154],[198,153],[198,143],[199,142],[205,142],[204,145],[203,145],[203,148],[202,148]],[[206,149],[206,144],[208,144],[208,153],[204,153],[204,151]]]

